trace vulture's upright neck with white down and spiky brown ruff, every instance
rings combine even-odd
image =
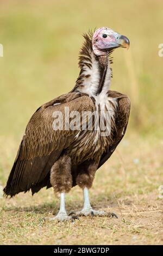
[[[80,74],[73,92],[81,92],[97,97],[105,96],[109,90],[112,60],[108,56],[96,56],[92,50],[92,40],[84,35],[85,42],[79,55]]]

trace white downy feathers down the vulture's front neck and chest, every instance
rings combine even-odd
[[[94,144],[98,139],[101,139],[102,142],[102,137],[111,135],[111,125],[115,123],[117,112],[117,99],[108,97],[111,82],[110,61],[108,59],[104,78],[102,78],[103,75],[99,65],[99,60],[91,53],[91,68],[87,66],[87,63],[83,64],[82,86],[78,88],[78,92],[86,93],[95,99],[95,127],[93,127],[91,135]],[[102,79],[104,80],[102,81]],[[101,83],[102,89],[99,90]],[[87,140],[85,143],[87,143]]]

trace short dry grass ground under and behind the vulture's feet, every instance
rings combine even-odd
[[[160,141],[126,138],[112,159],[97,172],[90,192],[92,205],[116,212],[118,219],[80,217],[75,223],[45,222],[43,217],[56,214],[59,208],[52,189],[43,189],[34,197],[21,193],[0,201],[0,243],[162,244],[163,199],[158,197],[158,187],[163,184],[162,148]],[[8,173],[3,175],[5,180]],[[67,211],[82,208],[82,200],[82,191],[74,187],[67,195]]]

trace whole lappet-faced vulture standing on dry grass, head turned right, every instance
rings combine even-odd
[[[118,47],[129,47],[126,36],[107,27],[84,34],[79,53],[80,73],[70,93],[43,104],[32,115],[23,135],[4,193],[38,192],[53,187],[60,195],[60,210],[51,220],[77,216],[115,216],[94,210],[89,189],[96,170],[109,159],[127,129],[130,100],[110,90],[110,57]],[[65,194],[83,189],[81,211],[67,215]]]

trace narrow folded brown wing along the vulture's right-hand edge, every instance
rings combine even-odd
[[[116,118],[116,132],[114,135],[114,144],[108,149],[108,152],[104,153],[99,161],[98,168],[105,163],[112,153],[115,151],[117,145],[120,143],[124,134],[126,133],[129,114],[130,114],[130,100],[128,96],[118,92],[109,91],[110,97],[116,97],[118,101],[118,113]]]

